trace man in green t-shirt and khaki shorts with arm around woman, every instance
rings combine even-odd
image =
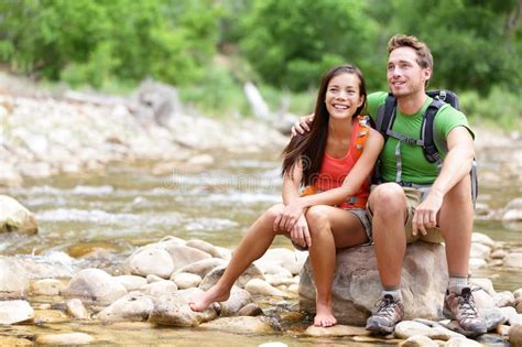
[[[432,77],[433,57],[425,43],[414,36],[395,35],[388,43],[388,85],[396,98],[391,130],[418,139],[423,113],[433,101],[425,88]],[[367,110],[376,119],[388,93],[368,96]],[[368,202],[372,215],[373,242],[383,286],[379,308],[368,318],[373,334],[392,333],[404,316],[400,291],[406,243],[415,240],[446,243],[449,283],[444,313],[458,322],[468,335],[486,333],[486,322],[475,307],[468,285],[468,262],[472,230],[471,170],[474,133],[464,113],[445,105],[434,126],[443,156],[442,167],[429,163],[422,147],[389,137],[380,154],[383,183],[373,187]],[[306,121],[295,131],[307,129]],[[295,133],[294,131],[294,133]],[[437,143],[438,142],[438,143]]]

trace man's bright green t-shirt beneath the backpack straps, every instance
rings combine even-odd
[[[384,105],[388,93],[377,91],[368,96],[367,110],[370,117],[376,120],[378,109]],[[423,107],[415,115],[403,115],[399,108],[396,110],[395,121],[392,130],[412,139],[421,138],[421,128],[423,113],[432,102],[432,98],[426,98]],[[446,156],[446,138],[454,128],[464,126],[470,132],[466,116],[450,105],[444,105],[435,117],[435,145],[444,159]],[[389,137],[384,149],[379,156],[381,161],[380,174],[384,182],[395,182],[396,177],[396,159],[395,147],[399,140]],[[438,175],[436,163],[429,163],[424,158],[422,147],[416,144],[401,143],[401,161],[402,161],[402,181],[415,184],[432,184]]]

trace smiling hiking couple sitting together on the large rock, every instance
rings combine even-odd
[[[192,299],[192,310],[227,300],[236,279],[275,235],[285,235],[309,251],[317,288],[314,325],[331,326],[337,323],[331,308],[336,249],[373,242],[383,291],[367,329],[389,334],[404,316],[400,284],[406,245],[444,241],[449,270],[444,313],[470,335],[486,333],[467,281],[474,133],[460,111],[441,106],[433,138],[442,158],[427,161],[417,139],[433,101],[426,95],[432,54],[426,44],[405,35],[391,37],[388,53],[388,86],[396,106],[387,140],[360,115],[376,120],[388,93],[367,96],[362,74],[351,65],[326,73],[314,116],[294,126],[283,152],[283,204],[269,208],[248,229],[222,278]],[[370,188],[378,158],[382,183]],[[306,186],[305,194],[300,195],[300,186]]]

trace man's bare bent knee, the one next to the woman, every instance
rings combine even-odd
[[[373,214],[396,214],[406,209],[406,198],[396,183],[378,185],[370,194],[370,209]]]

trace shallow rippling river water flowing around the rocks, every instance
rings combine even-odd
[[[219,162],[205,172],[183,172],[172,167],[164,176],[150,174],[150,165],[113,165],[105,174],[59,176],[28,182],[22,188],[0,192],[19,199],[36,215],[39,234],[0,235],[0,254],[30,257],[70,267],[99,267],[118,273],[122,261],[135,247],[173,235],[202,239],[232,249],[246,228],[269,206],[281,202],[280,161],[276,153],[230,156],[213,153]],[[494,161],[490,169],[496,170]],[[481,187],[480,198],[491,208],[501,208],[521,196],[521,188],[502,182]],[[475,231],[483,232],[508,248],[522,247],[520,225],[477,220]],[[289,247],[276,238],[274,247]],[[104,257],[83,257],[87,253]],[[102,259],[102,260],[100,260]],[[481,271],[498,291],[522,288],[515,271]],[[267,341],[293,345],[337,345],[345,339],[307,338],[285,330],[270,336],[237,336],[200,329],[157,328],[146,324],[99,325],[66,322],[42,326],[18,326],[18,334],[0,329],[0,336],[24,336],[46,332],[85,332],[98,341],[122,344],[173,344],[180,346],[255,346]],[[3,332],[3,334],[2,334]],[[351,344],[356,344],[351,341]]]

